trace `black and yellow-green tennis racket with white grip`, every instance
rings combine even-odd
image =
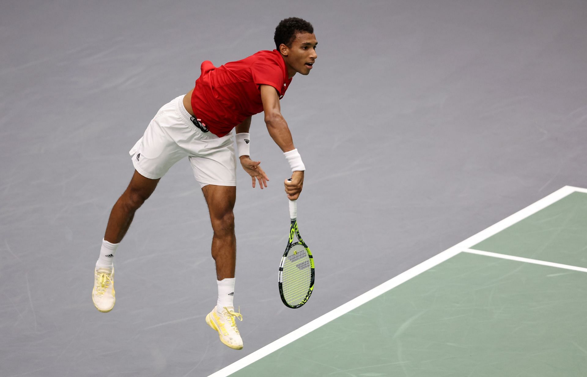
[[[305,304],[314,289],[314,258],[298,230],[298,204],[289,201],[289,241],[279,264],[279,295],[288,308]],[[294,233],[298,241],[294,242]]]

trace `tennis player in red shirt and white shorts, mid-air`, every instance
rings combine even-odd
[[[129,229],[135,211],[153,193],[158,181],[174,163],[188,157],[194,177],[204,193],[214,236],[212,258],[216,263],[217,305],[206,322],[218,331],[220,340],[242,349],[234,310],[236,238],[235,129],[238,157],[251,176],[252,187],[263,189],[269,180],[260,161],[250,157],[251,116],[264,112],[267,130],[289,161],[291,181],[285,180],[288,198],[302,191],[305,167],[294,147],[279,100],[296,73],[308,75],[316,60],[316,37],[311,23],[301,18],[279,22],[274,36],[276,50],[259,51],[237,62],[216,68],[201,65],[194,89],[161,107],[143,137],[130,150],[134,175],[126,191],[114,204],[96,262],[92,299],[101,312],[114,307],[114,255]]]

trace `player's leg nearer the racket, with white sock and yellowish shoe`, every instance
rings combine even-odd
[[[236,318],[242,315],[234,311],[234,270],[237,261],[237,237],[234,235],[232,209],[237,198],[235,186],[204,186],[204,197],[210,211],[212,258],[216,262],[218,301],[206,316],[207,324],[215,329],[220,341],[232,349],[242,349],[242,338],[238,332]]]

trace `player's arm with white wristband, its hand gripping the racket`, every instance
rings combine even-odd
[[[288,194],[289,199],[296,200],[302,192],[303,186],[305,167],[303,166],[302,158],[294,147],[294,140],[292,140],[292,134],[289,132],[288,123],[285,122],[284,117],[281,115],[277,90],[271,85],[261,85],[261,100],[269,135],[284,152],[284,156],[292,168],[291,181],[284,181],[285,192]]]

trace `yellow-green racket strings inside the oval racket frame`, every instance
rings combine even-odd
[[[282,291],[291,305],[300,304],[308,295],[312,281],[312,269],[306,249],[294,244],[289,250],[282,272]]]

